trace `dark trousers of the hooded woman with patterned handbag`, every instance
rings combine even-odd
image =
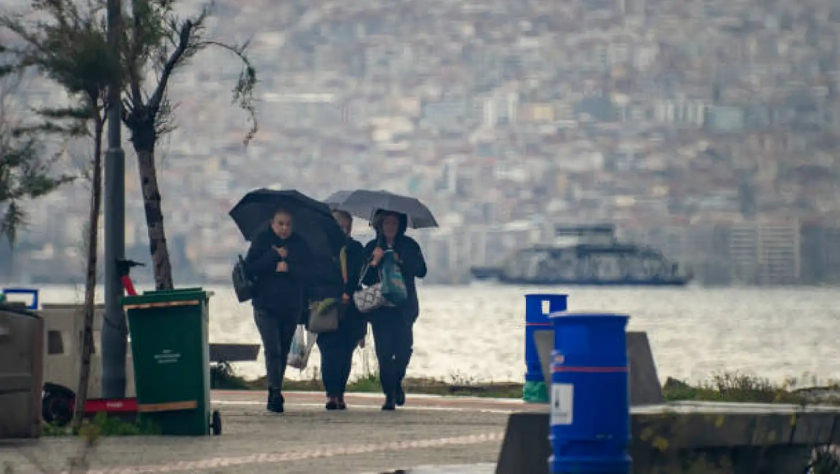
[[[382,393],[393,398],[412,360],[414,323],[402,311],[383,308],[371,315],[370,329],[379,362]]]

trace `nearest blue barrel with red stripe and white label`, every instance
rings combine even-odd
[[[627,315],[555,313],[551,474],[629,474]]]

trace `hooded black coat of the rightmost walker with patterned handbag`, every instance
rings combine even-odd
[[[401,231],[404,232],[403,229]],[[385,239],[377,237],[365,245],[365,262],[370,262],[373,258],[373,251],[376,247],[386,247]],[[422,279],[426,276],[426,259],[423,258],[423,251],[420,245],[412,237],[408,237],[404,233],[399,233],[394,239],[392,250],[399,257],[397,265],[402,271],[402,279],[406,282],[407,299],[396,308],[383,307],[377,311],[400,311],[410,320],[417,320],[420,315],[420,303],[417,300],[417,282],[415,279]],[[365,284],[375,284],[380,281],[380,274],[377,268],[368,268],[365,273]],[[375,311],[376,312],[376,311]]]

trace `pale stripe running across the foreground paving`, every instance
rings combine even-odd
[[[406,451],[411,449],[436,448],[450,445],[478,445],[504,438],[504,433],[466,435],[436,440],[393,441],[368,445],[346,445],[317,450],[296,450],[278,453],[260,453],[238,457],[213,457],[198,461],[177,461],[150,466],[107,467],[85,471],[84,474],[153,474],[155,472],[202,471],[219,467],[245,466],[249,464],[272,464],[288,461],[303,461],[334,456],[349,456],[381,451]],[[69,474],[64,471],[61,474]]]

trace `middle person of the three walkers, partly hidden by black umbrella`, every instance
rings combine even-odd
[[[365,263],[365,248],[350,237],[353,217],[349,213],[333,211],[333,217],[347,234],[347,243],[344,246],[347,262],[346,275],[342,275],[343,278],[346,277],[344,294],[341,298],[343,311],[339,328],[318,334],[316,341],[318,350],[321,352],[321,380],[327,392],[327,409],[343,410],[347,409],[347,404],[344,403],[344,390],[347,388],[350,369],[353,365],[353,352],[356,346],[365,340],[367,333],[367,321],[353,304],[353,294],[360,287],[359,276]]]

